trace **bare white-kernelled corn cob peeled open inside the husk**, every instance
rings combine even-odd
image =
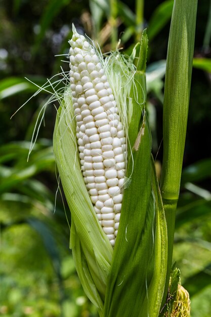
[[[94,48],[76,32],[70,44],[70,88],[83,179],[112,246],[118,232],[126,138],[114,95]]]

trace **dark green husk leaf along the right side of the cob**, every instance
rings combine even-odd
[[[124,189],[106,291],[105,317],[129,316],[132,312],[140,317],[158,316],[165,284],[166,223],[151,161],[151,134],[144,109],[146,50],[147,37],[143,32],[139,67],[130,92],[132,116],[126,177],[131,182]]]

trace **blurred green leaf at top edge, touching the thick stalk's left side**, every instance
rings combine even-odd
[[[152,41],[163,26],[171,19],[173,5],[174,0],[167,0],[155,9],[147,28],[149,41]]]

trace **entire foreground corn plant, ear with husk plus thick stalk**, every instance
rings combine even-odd
[[[174,3],[160,185],[146,109],[146,30],[130,57],[116,51],[103,59],[73,26],[54,153],[71,211],[75,267],[100,316],[190,315],[172,251],[196,8],[196,0]]]

